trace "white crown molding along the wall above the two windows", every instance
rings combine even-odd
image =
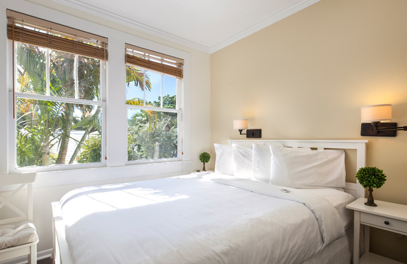
[[[137,30],[140,30],[142,32],[146,32],[149,34],[152,34],[154,36],[163,38],[165,40],[169,40],[181,45],[185,45],[187,47],[202,51],[202,52],[206,52],[209,53],[210,48],[200,45],[198,43],[177,37],[175,35],[169,34],[168,32],[164,32],[160,29],[148,26],[146,24],[142,24],[139,23],[135,20],[129,19],[129,18],[123,18],[122,16],[119,16],[117,14],[105,11],[103,9],[100,8],[96,8],[94,6],[88,5],[88,4],[84,4],[83,2],[77,1],[77,0],[51,0],[53,2],[77,9],[79,11],[85,12],[85,13],[89,13]]]

